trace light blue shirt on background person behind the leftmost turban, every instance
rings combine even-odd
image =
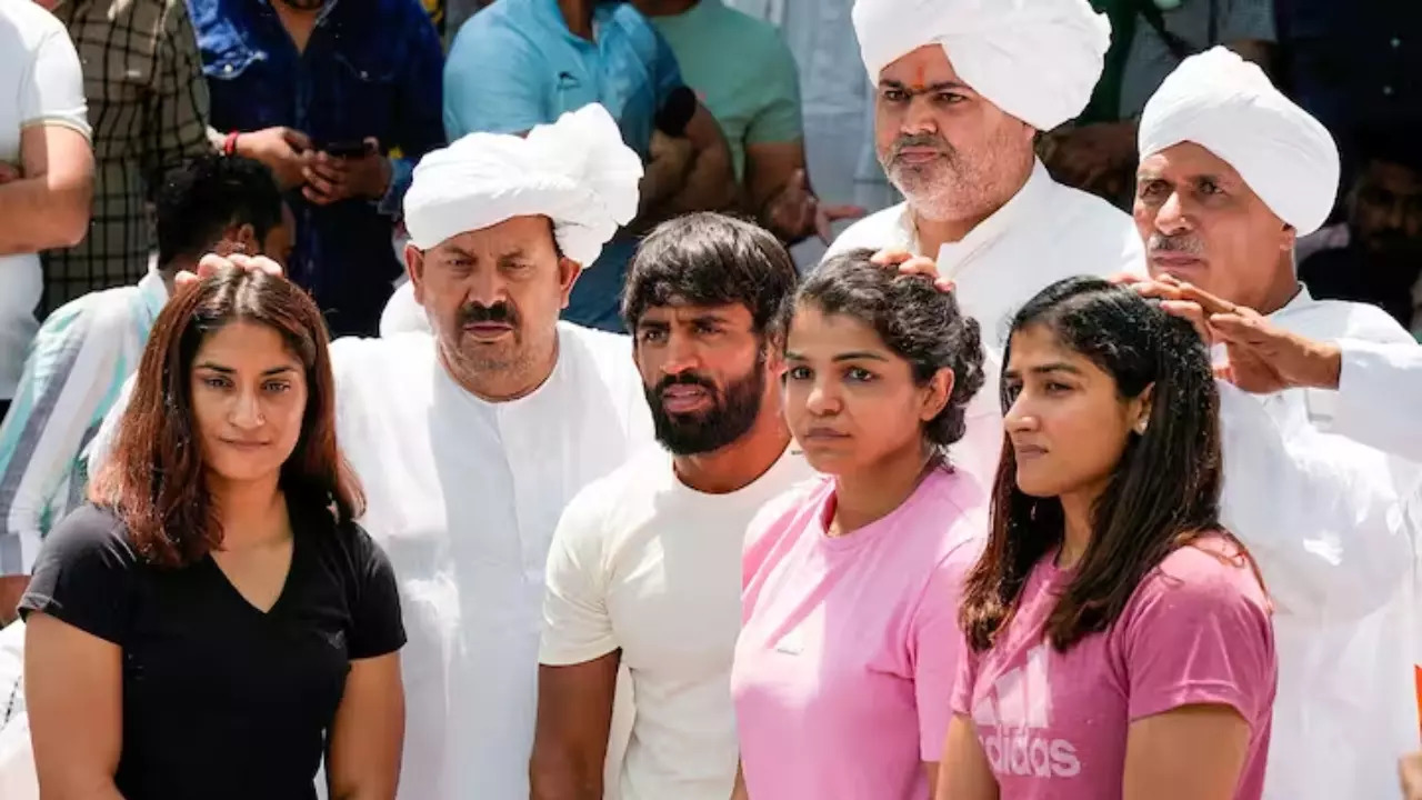
[[[498,0],[471,17],[449,48],[445,134],[449,141],[475,131],[522,134],[599,102],[646,161],[657,110],[678,85],[671,48],[627,3],[600,3],[587,41],[567,28],[557,0]],[[609,242],[573,286],[563,319],[621,330],[619,298],[634,249],[623,233]]]

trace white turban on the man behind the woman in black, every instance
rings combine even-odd
[[[415,167],[405,192],[410,241],[429,249],[515,216],[547,216],[563,255],[592,266],[637,215],[641,158],[597,104],[528,137],[469,134]]]

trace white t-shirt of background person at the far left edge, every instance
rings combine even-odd
[[[20,132],[30,125],[88,137],[84,74],[60,20],[33,0],[0,0],[0,161],[23,167]],[[14,397],[43,288],[40,256],[0,255],[0,400]]]

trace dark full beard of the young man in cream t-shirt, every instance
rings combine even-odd
[[[705,389],[711,397],[711,407],[697,414],[667,413],[661,393],[677,384]],[[755,360],[755,367],[749,373],[728,383],[724,393],[710,379],[695,373],[667,376],[656,387],[644,391],[657,441],[663,447],[674,456],[714,453],[745,436],[761,416],[761,400],[765,397],[765,354]]]

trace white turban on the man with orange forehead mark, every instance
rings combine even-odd
[[[1039,131],[1081,114],[1111,47],[1088,0],[856,0],[853,19],[872,81],[941,44],[967,85]]]

